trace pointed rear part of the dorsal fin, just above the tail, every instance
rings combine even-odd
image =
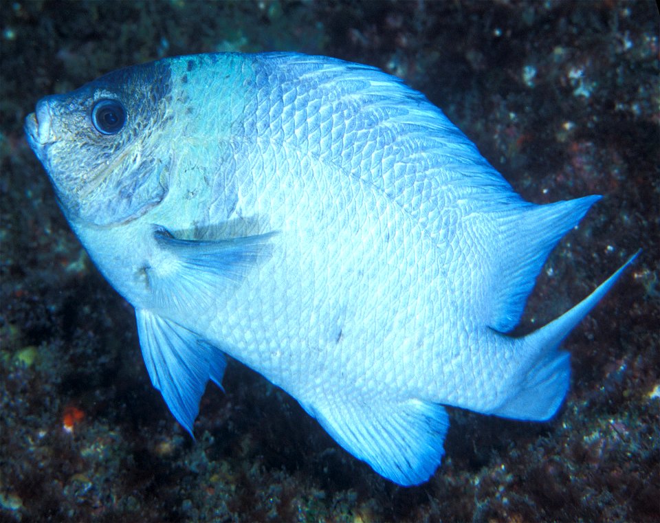
[[[514,203],[494,216],[498,234],[487,253],[485,323],[508,332],[520,321],[527,297],[545,260],[558,241],[600,199],[588,196],[547,205]]]

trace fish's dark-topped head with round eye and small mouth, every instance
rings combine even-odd
[[[25,118],[69,221],[126,223],[162,201],[172,153],[159,137],[171,120],[170,91],[166,63],[127,67],[46,96]]]

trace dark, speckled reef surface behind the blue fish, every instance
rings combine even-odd
[[[653,1],[0,2],[0,520],[660,520],[659,21]],[[564,346],[549,423],[450,410],[400,488],[230,364],[193,441],[135,320],[58,210],[22,123],[39,98],[163,56],[296,50],[401,76],[536,203],[604,198],[551,255],[521,331],[639,261]]]

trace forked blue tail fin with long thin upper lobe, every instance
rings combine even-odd
[[[527,361],[517,377],[516,394],[490,414],[544,421],[557,412],[569,389],[571,375],[569,353],[558,350],[559,344],[605,296],[638,254],[639,251],[573,309],[520,340],[521,360]]]

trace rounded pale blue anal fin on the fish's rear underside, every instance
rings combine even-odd
[[[399,485],[419,485],[440,465],[449,427],[441,405],[409,399],[303,407],[344,449]]]

